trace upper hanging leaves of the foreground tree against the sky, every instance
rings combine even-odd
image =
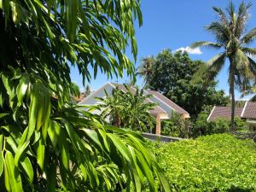
[[[24,29],[31,30],[32,36],[44,38],[44,41],[34,38],[30,43],[44,47],[43,55],[38,55],[38,52],[34,55],[47,63],[42,62],[40,66],[48,66],[56,76],[58,71],[69,69],[63,57],[78,66],[84,82],[90,79],[87,70],[89,64],[95,68],[95,72],[101,69],[109,77],[122,76],[124,70],[133,75],[134,66],[125,56],[125,49],[130,41],[136,60],[134,20],[138,21],[139,26],[142,25],[138,1],[3,1],[1,9],[6,29],[12,25],[12,20],[17,25],[26,24]],[[17,38],[23,40],[23,37]],[[28,44],[24,48],[31,49]],[[50,51],[54,51],[56,56],[49,54]],[[53,65],[56,61],[63,65]],[[67,73],[62,78],[68,79]]]

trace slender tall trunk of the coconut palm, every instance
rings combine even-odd
[[[235,131],[235,63],[233,58],[230,58],[230,96],[231,96],[231,125],[230,131]]]

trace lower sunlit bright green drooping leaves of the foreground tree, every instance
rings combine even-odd
[[[152,191],[156,189],[154,180],[161,171],[141,143],[141,136],[103,125],[98,116],[67,103],[58,114],[51,113],[58,101],[44,83],[35,82],[27,73],[7,78],[13,73],[5,74],[4,89],[13,94],[9,102],[20,111],[16,121],[22,123],[3,125],[0,129],[0,171],[4,172],[5,189],[22,191],[25,183],[33,189],[35,174],[46,179],[45,188],[49,191],[55,188],[74,191],[84,184],[87,186],[84,189],[113,190],[119,185],[130,190],[129,185],[123,187],[126,181],[135,183],[140,191],[145,179]],[[9,114],[4,113],[2,119],[8,122]],[[165,181],[163,177],[158,179],[160,183]],[[168,186],[163,188],[168,191]]]

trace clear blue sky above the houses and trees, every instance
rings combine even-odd
[[[210,24],[218,16],[212,10],[212,6],[225,8],[229,0],[142,0],[143,26],[136,27],[136,38],[138,55],[136,67],[140,64],[140,59],[147,55],[157,55],[162,49],[186,48],[195,41],[213,41],[211,34],[207,33],[204,26]],[[234,0],[236,6],[241,3]],[[256,3],[250,11],[251,17],[247,23],[247,29],[256,27]],[[255,47],[256,44],[252,44]],[[199,52],[199,51],[195,51]],[[201,54],[190,54],[193,60],[208,61],[218,51],[212,49],[201,49]],[[131,50],[127,50],[127,55],[132,59]],[[82,86],[82,78],[78,70],[73,68],[71,77],[74,82]],[[225,90],[228,94],[227,68],[224,68],[218,77],[218,90]],[[108,79],[106,75],[98,73],[96,79],[92,79],[90,86],[93,90],[98,89],[107,81],[124,83],[129,79]],[[137,84],[142,85],[143,79],[137,79]],[[239,97],[239,93],[236,93]]]

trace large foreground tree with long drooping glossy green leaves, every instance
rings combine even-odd
[[[2,191],[170,190],[141,137],[103,125],[69,103],[88,66],[134,73],[125,47],[137,55],[131,1],[0,2],[0,185]],[[112,54],[110,54],[112,53]]]

